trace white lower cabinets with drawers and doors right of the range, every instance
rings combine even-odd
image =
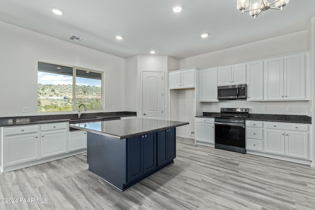
[[[246,149],[310,160],[309,125],[286,122],[246,122]]]

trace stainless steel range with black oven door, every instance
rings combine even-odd
[[[245,119],[248,108],[221,108],[215,118],[215,148],[246,153]]]

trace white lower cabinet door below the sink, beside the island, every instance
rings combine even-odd
[[[68,151],[82,150],[87,148],[87,131],[69,132]]]

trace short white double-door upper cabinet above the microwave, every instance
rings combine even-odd
[[[222,66],[218,68],[218,86],[246,83],[246,64]]]

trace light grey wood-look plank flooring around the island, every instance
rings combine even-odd
[[[0,210],[315,210],[315,168],[190,139],[177,139],[173,164],[124,192],[88,171],[86,160],[84,153],[0,174],[0,198],[43,202]]]

